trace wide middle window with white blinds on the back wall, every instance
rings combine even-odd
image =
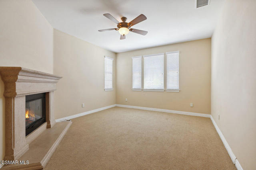
[[[164,91],[164,53],[144,57],[144,91]]]

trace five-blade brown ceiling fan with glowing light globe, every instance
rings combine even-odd
[[[140,29],[134,29],[134,28],[130,28],[133,25],[140,23],[141,21],[146,20],[146,16],[144,16],[143,14],[140,14],[138,17],[136,17],[134,20],[130,21],[129,23],[126,22],[127,18],[126,17],[122,17],[121,20],[122,22],[118,22],[118,20],[116,20],[116,18],[114,18],[112,15],[110,14],[103,14],[106,18],[110,19],[111,21],[113,21],[114,23],[117,24],[117,28],[110,28],[110,29],[101,29],[98,30],[100,32],[103,31],[111,31],[111,30],[116,30],[118,31],[121,36],[120,39],[125,39],[125,36],[131,31],[134,33],[138,33],[140,35],[146,35],[148,33],[148,31],[143,31]]]

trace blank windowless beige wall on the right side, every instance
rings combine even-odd
[[[255,7],[227,0],[212,36],[211,113],[244,170],[256,169]]]

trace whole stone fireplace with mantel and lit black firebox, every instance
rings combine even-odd
[[[22,67],[0,67],[0,76],[5,97],[4,160],[18,160],[36,137],[54,126],[54,91],[61,77]]]

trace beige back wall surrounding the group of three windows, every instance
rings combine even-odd
[[[169,51],[180,51],[180,92],[132,91],[131,57]],[[210,38],[118,53],[116,103],[210,114],[210,58]],[[166,75],[166,55],[164,59],[164,75]],[[166,76],[164,76],[164,88],[166,89]],[[128,102],[125,102],[125,98]],[[190,103],[194,103],[194,107],[190,107]]]

